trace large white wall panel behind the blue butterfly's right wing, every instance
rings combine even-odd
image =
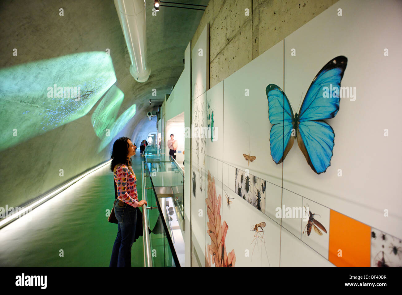
[[[334,116],[325,120],[333,130],[330,132],[334,134],[334,146],[332,151],[328,149],[321,154],[316,142],[326,138],[326,128],[317,127],[309,139],[308,131],[303,130],[306,127],[300,125],[300,132],[306,133],[304,144],[312,147],[310,157],[319,153],[320,160],[328,161],[329,165],[326,171],[324,165],[325,172],[314,172],[296,142],[283,164],[286,189],[399,236],[402,172],[395,163],[402,162],[399,153],[402,138],[392,134],[390,128],[398,124],[397,106],[401,106],[401,101],[396,95],[396,85],[402,73],[402,58],[395,54],[385,56],[384,49],[392,51],[402,46],[402,40],[395,38],[402,29],[401,12],[400,1],[380,4],[341,0],[285,38],[285,95],[300,121],[309,120],[306,117],[311,118],[311,114],[317,114],[317,120]],[[334,36],[338,41],[332,42]],[[341,60],[345,63],[340,70],[344,75],[336,116],[330,114],[329,105],[324,111],[313,110],[315,106],[306,108],[300,116],[302,101],[308,102],[312,96],[306,96],[310,83],[333,59],[338,65]],[[336,96],[337,78],[333,75],[320,84],[318,95],[331,96],[332,92]],[[326,86],[328,93],[322,90]],[[313,89],[314,85],[310,87]],[[322,99],[324,106],[330,101],[331,98]],[[300,124],[313,122],[317,121]],[[390,130],[389,136],[384,136],[385,129]],[[318,161],[315,165],[320,166]],[[392,210],[387,218],[385,209]]]

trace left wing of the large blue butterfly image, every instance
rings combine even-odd
[[[273,124],[269,132],[271,156],[276,164],[285,159],[293,146],[294,136],[291,136],[293,127],[293,110],[285,93],[275,84],[269,84],[265,89],[268,99],[268,118]]]

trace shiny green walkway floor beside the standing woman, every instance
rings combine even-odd
[[[132,159],[141,199],[141,161]],[[109,165],[91,173],[0,230],[0,267],[109,267],[117,224],[107,221],[115,199]],[[143,240],[131,266],[144,266]]]

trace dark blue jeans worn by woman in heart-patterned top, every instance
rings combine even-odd
[[[112,258],[109,267],[131,267],[131,246],[135,237],[137,223],[137,208],[124,204],[115,205],[115,215],[118,221],[117,237],[113,245]]]

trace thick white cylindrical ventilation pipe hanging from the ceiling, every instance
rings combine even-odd
[[[148,80],[145,0],[114,0],[130,55],[130,73],[138,82]]]

